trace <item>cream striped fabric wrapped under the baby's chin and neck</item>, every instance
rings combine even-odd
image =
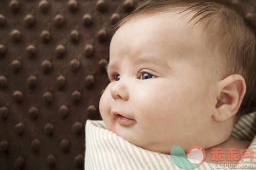
[[[253,161],[244,159],[237,165],[256,169],[256,112],[241,117],[234,126],[232,136],[251,140],[249,149],[254,151]],[[253,164],[254,163],[254,164]],[[195,169],[214,169],[204,162]],[[220,166],[219,166],[220,167]],[[181,169],[170,159],[170,155],[144,150],[109,131],[102,120],[87,120],[86,156],[84,168],[101,169]],[[239,169],[240,169],[239,168]],[[225,168],[215,168],[225,169]],[[251,168],[244,168],[251,169]]]

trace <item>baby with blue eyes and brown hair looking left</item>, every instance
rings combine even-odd
[[[227,1],[144,1],[112,38],[99,127],[159,154],[200,145],[206,162],[212,148],[247,149],[251,141],[230,134],[255,98],[255,45],[252,26]],[[86,152],[90,141],[103,152],[89,134]]]

